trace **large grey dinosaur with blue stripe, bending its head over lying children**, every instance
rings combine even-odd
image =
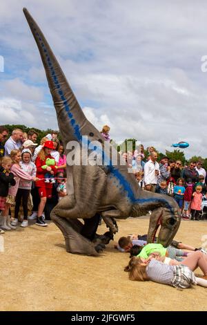
[[[175,236],[181,220],[177,203],[170,196],[141,189],[135,181],[135,176],[128,173],[124,160],[115,148],[110,146],[108,153],[103,150],[103,136],[83,114],[39,26],[28,10],[24,8],[23,12],[39,48],[57,112],[59,130],[66,148],[68,196],[51,212],[52,221],[65,237],[66,250],[72,253],[98,254],[103,248],[103,243],[108,243],[106,236],[95,236],[100,215],[112,234],[117,232],[113,218],[137,217],[149,210],[152,214],[148,242],[154,240],[157,228],[161,225],[158,242],[167,246]],[[75,145],[77,143],[79,146]],[[85,157],[84,150],[89,153],[88,158]],[[70,156],[72,151],[74,154],[79,153],[80,164],[68,164],[68,155]],[[104,158],[105,163],[97,164],[97,153],[99,158]],[[116,164],[112,163],[113,155],[117,156]],[[82,159],[85,159],[85,163]],[[83,219],[84,224],[77,219]]]

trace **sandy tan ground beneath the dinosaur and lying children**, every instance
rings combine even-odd
[[[145,234],[148,219],[119,221],[119,233]],[[99,227],[99,233],[106,226]],[[205,221],[182,221],[177,240],[201,245]],[[63,236],[50,223],[3,234],[0,253],[0,310],[207,310],[207,289],[177,290],[151,281],[130,281],[127,253],[111,242],[99,257],[69,254]],[[199,271],[199,270],[198,270]]]

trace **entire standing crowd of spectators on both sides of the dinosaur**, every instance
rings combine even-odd
[[[103,126],[101,135],[110,141],[110,127]],[[6,127],[0,127],[0,210],[1,233],[28,226],[28,218],[46,227],[45,214],[66,196],[66,155],[58,133],[53,131],[37,143],[38,134],[14,129],[8,137]],[[201,203],[206,200],[206,171],[202,162],[190,162],[182,167],[180,160],[164,156],[157,162],[155,148],[144,146],[135,151],[119,153],[126,160],[128,171],[135,174],[139,186],[147,191],[170,195],[181,209],[183,219],[199,220]],[[50,206],[52,204],[52,206]],[[28,216],[32,210],[32,214]],[[19,216],[19,213],[22,216]],[[12,214],[12,218],[11,218]]]

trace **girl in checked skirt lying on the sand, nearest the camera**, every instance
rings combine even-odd
[[[193,273],[197,267],[204,272],[202,279],[195,277]],[[166,265],[152,256],[148,259],[132,257],[124,270],[128,272],[130,280],[134,281],[152,280],[175,288],[189,288],[191,284],[207,287],[207,260],[199,251],[190,254],[176,266]]]

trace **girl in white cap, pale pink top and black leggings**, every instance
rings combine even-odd
[[[23,149],[23,151],[21,151],[21,159],[22,161],[19,163],[21,169],[23,171],[26,171],[26,173],[32,176],[32,178],[35,178],[37,168],[34,165],[34,163],[32,163],[31,161],[32,153],[30,149]],[[28,198],[30,196],[31,187],[32,187],[31,180],[21,179],[19,181],[19,189],[17,191],[16,203],[14,209],[14,219],[18,219],[19,207],[21,205],[21,199],[22,199],[23,221],[21,223],[21,227],[23,228],[28,227]]]

